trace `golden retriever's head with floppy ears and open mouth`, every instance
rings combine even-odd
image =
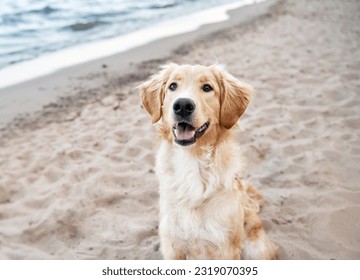
[[[169,64],[139,89],[152,122],[160,121],[162,134],[182,146],[233,127],[252,93],[219,65]]]

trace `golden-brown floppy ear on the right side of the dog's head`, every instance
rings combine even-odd
[[[220,70],[220,76],[220,124],[230,129],[245,112],[254,90],[223,69]]]

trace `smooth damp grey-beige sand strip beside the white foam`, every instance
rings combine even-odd
[[[59,99],[74,99],[75,95],[79,95],[79,91],[68,89],[68,87],[74,81],[84,79],[86,76],[96,76],[96,87],[99,82],[102,82],[105,88],[108,83],[114,83],[113,81],[119,78],[124,83],[129,80],[145,79],[152,74],[151,71],[139,74],[142,72],[142,64],[146,61],[150,63],[154,61],[154,64],[158,61],[159,63],[154,65],[156,68],[166,61],[171,61],[172,55],[186,53],[187,46],[201,40],[201,38],[211,36],[213,33],[221,32],[221,30],[226,30],[232,26],[251,22],[268,13],[268,10],[276,2],[277,0],[267,0],[241,6],[228,11],[229,19],[225,21],[202,25],[191,32],[157,39],[118,54],[76,64],[48,75],[0,88],[0,131],[6,130],[7,127],[18,126],[31,117],[33,113],[39,113],[49,104],[61,103]],[[216,58],[214,58],[215,61]],[[101,90],[101,88],[93,88],[91,82],[89,86],[83,83],[82,87],[84,87],[83,90],[80,90],[82,92],[84,90]],[[83,93],[82,98],[86,98],[85,95]],[[66,105],[63,104],[62,106]]]

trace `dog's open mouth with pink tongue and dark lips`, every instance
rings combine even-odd
[[[194,144],[196,139],[204,135],[209,128],[209,122],[204,123],[200,128],[196,129],[187,122],[179,122],[173,127],[175,143],[181,146]]]

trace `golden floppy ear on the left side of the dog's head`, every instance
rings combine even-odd
[[[138,86],[142,105],[152,117],[152,123],[158,122],[162,116],[166,83],[175,66],[173,63],[162,66],[162,70]]]

